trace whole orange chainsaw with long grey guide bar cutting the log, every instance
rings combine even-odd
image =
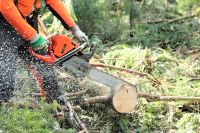
[[[89,61],[93,57],[96,49],[95,43],[91,43],[90,46],[88,42],[78,44],[72,38],[62,34],[53,35],[49,40],[50,45],[48,47],[47,55],[39,55],[35,53],[31,48],[29,48],[29,52],[34,57],[45,63],[61,67],[67,72],[76,76],[78,75],[88,77],[93,81],[99,82],[113,89],[117,89],[119,86],[127,84],[128,86],[132,87],[134,90],[133,92],[135,92],[134,95],[136,95],[137,98],[137,90],[134,85],[90,66]],[[85,49],[88,47],[89,50],[85,52]],[[132,110],[133,108],[130,108],[130,111]],[[66,114],[66,116],[68,115]],[[66,119],[68,118],[66,117]],[[74,123],[76,122],[74,121],[72,125],[74,127],[78,127],[77,124]]]

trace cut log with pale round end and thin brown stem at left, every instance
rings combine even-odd
[[[128,84],[119,85],[109,95],[84,98],[88,104],[111,103],[119,113],[129,113],[134,110],[137,104],[136,88]]]

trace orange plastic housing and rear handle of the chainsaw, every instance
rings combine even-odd
[[[79,47],[75,41],[62,34],[53,36],[50,39],[50,42],[51,43],[48,48],[48,55],[39,55],[33,52],[31,48],[29,48],[29,52],[37,59],[51,64],[56,62],[58,58],[69,53],[71,50]]]

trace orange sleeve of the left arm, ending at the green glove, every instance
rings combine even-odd
[[[23,19],[13,0],[0,0],[0,7],[3,17],[25,40],[35,36],[35,29]]]

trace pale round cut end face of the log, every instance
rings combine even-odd
[[[113,94],[113,106],[119,113],[129,113],[133,111],[137,104],[136,86],[128,84],[119,85]]]

